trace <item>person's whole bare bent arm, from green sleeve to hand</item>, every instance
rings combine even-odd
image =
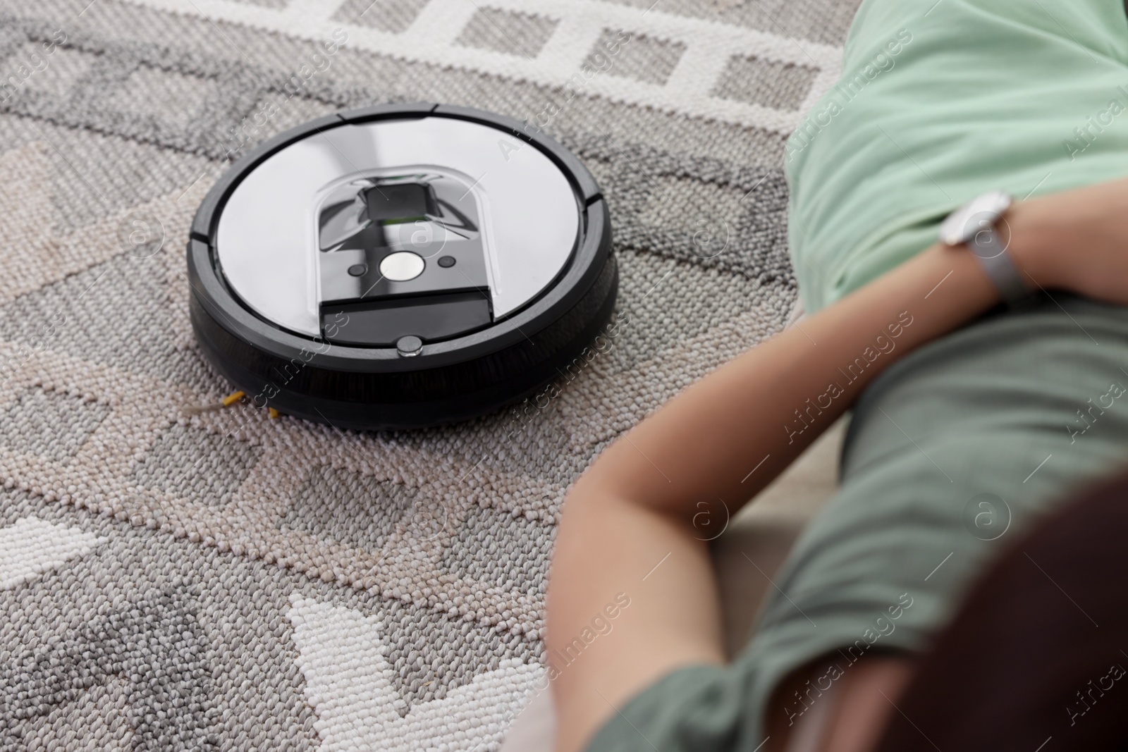
[[[1019,203],[1011,254],[1042,286],[1128,301],[1128,233],[1111,227],[1126,206],[1128,180]],[[565,499],[549,575],[558,752],[660,675],[723,662],[699,503],[714,521],[719,499],[735,514],[882,370],[997,302],[971,253],[934,246],[710,373],[592,463]]]

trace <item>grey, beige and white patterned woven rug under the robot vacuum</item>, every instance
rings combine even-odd
[[[856,5],[0,2],[0,750],[496,749],[569,484],[787,319],[784,138]],[[418,433],[193,412],[231,390],[188,325],[200,200],[273,133],[405,100],[588,165],[613,346]]]

